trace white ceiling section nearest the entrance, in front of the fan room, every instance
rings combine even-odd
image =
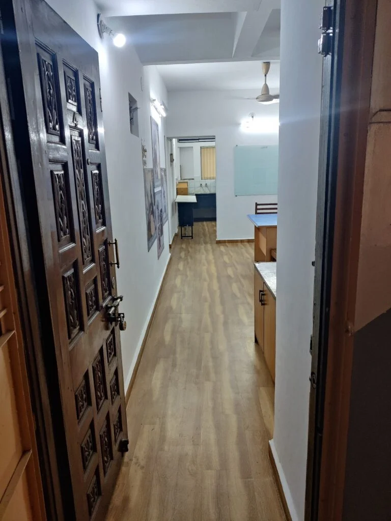
[[[280,0],[96,0],[150,64],[279,59]]]

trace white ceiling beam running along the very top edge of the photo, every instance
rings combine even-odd
[[[190,13],[239,13],[256,11],[262,0],[96,0],[106,16],[178,15]]]

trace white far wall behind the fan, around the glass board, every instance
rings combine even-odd
[[[217,239],[254,238],[254,227],[246,217],[254,213],[255,202],[276,202],[274,195],[234,195],[234,147],[236,145],[274,145],[277,133],[247,134],[240,122],[251,112],[257,117],[278,119],[278,104],[260,105],[245,97],[259,91],[169,92],[167,135],[216,137]]]

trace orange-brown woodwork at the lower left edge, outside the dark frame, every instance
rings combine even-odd
[[[3,150],[0,146],[0,155]],[[5,165],[0,161],[0,385],[2,396],[5,398],[0,415],[3,433],[2,454],[6,457],[1,463],[2,478],[7,478],[8,481],[6,484],[2,479],[0,519],[3,519],[3,515],[6,518],[17,515],[16,511],[20,508],[25,510],[23,514],[26,517],[31,516],[37,521],[43,521],[46,519],[45,505],[3,190],[4,168]],[[8,370],[10,375],[7,374]],[[15,413],[14,419],[7,414],[10,409]],[[22,492],[23,487],[26,487],[26,494]],[[21,510],[19,516],[23,515]]]

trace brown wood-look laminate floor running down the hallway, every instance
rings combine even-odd
[[[108,520],[280,521],[274,388],[254,344],[253,244],[176,238],[127,415]]]

